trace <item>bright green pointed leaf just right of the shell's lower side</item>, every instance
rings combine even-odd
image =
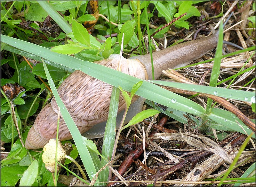
[[[137,113],[132,119],[131,121],[129,121],[129,123],[127,123],[127,125],[125,125],[123,127],[122,130],[124,130],[127,127],[130,127],[136,123],[139,123],[141,121],[143,121],[144,119],[147,119],[150,116],[154,116],[157,113],[160,113],[158,110],[154,110],[154,109],[148,109],[148,110],[143,110],[140,113]]]

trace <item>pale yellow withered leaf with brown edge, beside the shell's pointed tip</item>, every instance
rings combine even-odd
[[[49,143],[44,146],[44,153],[42,155],[43,162],[45,163],[45,168],[50,172],[55,171],[55,153],[56,153],[56,138],[50,139]],[[63,149],[62,144],[58,140],[58,150],[57,150],[57,161],[64,163],[66,156],[66,151]],[[60,170],[60,165],[57,164],[57,172]]]

